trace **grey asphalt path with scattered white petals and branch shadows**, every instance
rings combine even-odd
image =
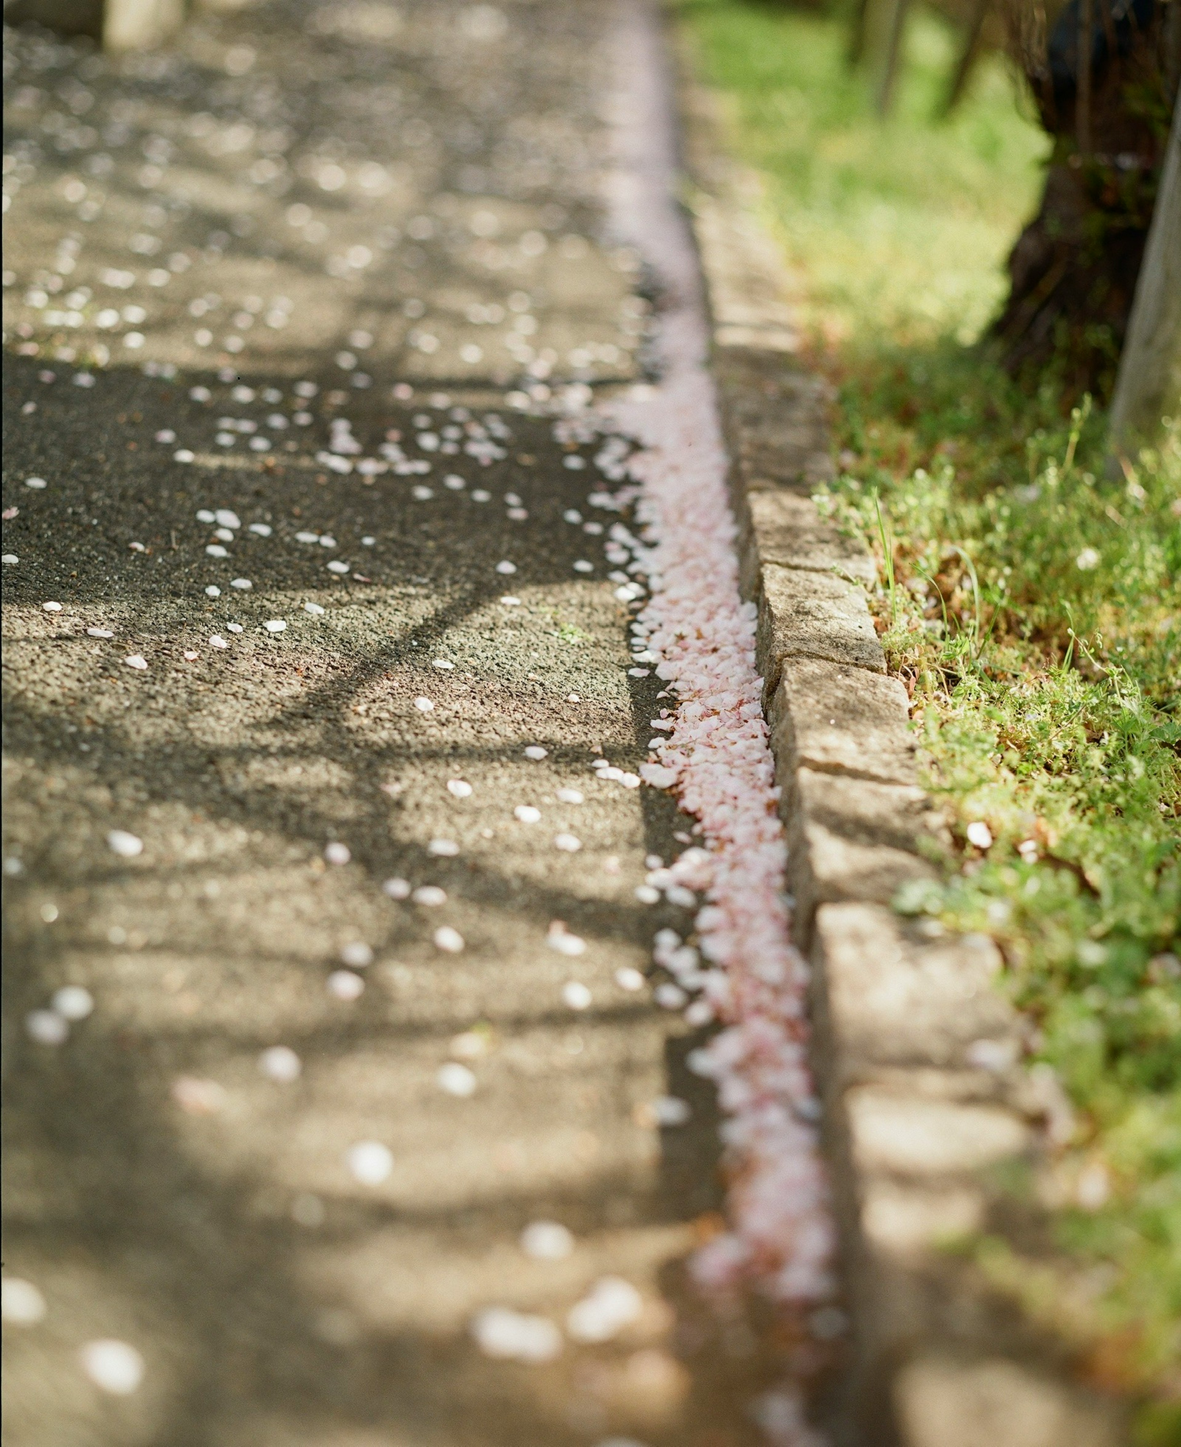
[[[541,414],[644,373],[615,19],[13,38],[12,1447],[757,1440],[618,451]]]

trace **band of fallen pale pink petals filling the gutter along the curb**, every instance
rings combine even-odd
[[[638,444],[625,463],[632,486],[618,495],[631,504],[634,527],[617,524],[612,540],[647,580],[634,647],[657,660],[672,705],[667,718],[653,721],[657,737],[641,773],[696,816],[703,845],[686,849],[670,874],[708,901],[696,916],[700,954],[712,965],[705,997],[724,1027],[690,1064],[716,1082],[727,1117],[731,1229],[699,1252],[695,1270],[703,1285],[748,1282],[800,1307],[832,1297],[835,1246],[806,1061],[808,965],[789,938],[755,608],[738,592],[705,304],[673,200],[661,61],[651,17],[628,7],[611,204],[617,232],[640,249],[663,292],[661,379],[647,395],[605,407],[599,425]],[[673,948],[664,954],[659,943],[657,961],[676,969]],[[815,1441],[792,1404],[784,1406],[773,1435]]]

